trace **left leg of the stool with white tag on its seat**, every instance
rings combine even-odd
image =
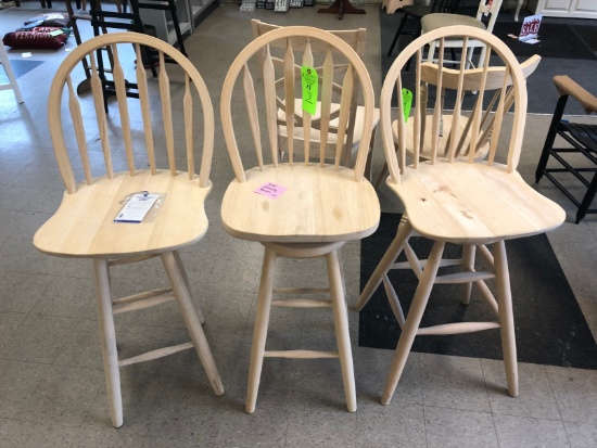
[[[120,395],[120,372],[118,370],[118,351],[116,332],[112,315],[112,294],[110,291],[110,272],[106,259],[94,259],[96,292],[98,298],[98,321],[102,344],[103,368],[110,404],[110,415],[114,427],[123,425],[123,397]]]

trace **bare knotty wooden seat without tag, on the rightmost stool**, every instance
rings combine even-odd
[[[433,240],[483,243],[551,230],[563,209],[533,190],[518,172],[495,164],[455,162],[406,168],[399,195],[412,227]]]

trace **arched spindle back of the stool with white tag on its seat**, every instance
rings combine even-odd
[[[156,52],[157,78],[148,79],[141,63],[141,46]],[[116,94],[104,107],[98,57],[106,48],[112,52],[109,68]],[[82,73],[74,69],[84,57],[90,61],[91,95],[78,98],[75,84]],[[131,64],[135,57],[136,66]],[[166,64],[166,57],[176,64]],[[131,80],[138,86],[138,99],[127,98]],[[82,102],[90,106],[81,107]],[[89,114],[89,110],[94,114]],[[176,119],[173,111],[182,111],[183,118]],[[157,38],[114,33],[78,46],[54,76],[48,119],[59,170],[68,193],[77,191],[75,171],[82,171],[85,182],[91,184],[97,176],[113,178],[118,170],[135,176],[139,165],[143,166],[141,169],[149,166],[152,175],[162,167],[172,176],[186,171],[189,179],[199,178],[199,187],[211,185],[214,111],[207,88],[193,64]]]

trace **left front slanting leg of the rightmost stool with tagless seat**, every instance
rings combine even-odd
[[[437,269],[440,268],[440,263],[442,261],[442,254],[444,253],[445,244],[446,243],[443,241],[436,241],[433,244],[433,248],[431,249],[431,254],[427,260],[423,274],[421,276],[417,291],[415,292],[415,297],[412,298],[410,309],[408,310],[406,322],[402,329],[396,353],[392,359],[392,366],[390,367],[390,373],[388,374],[388,380],[385,381],[385,387],[381,397],[382,405],[390,404],[390,400],[394,395],[394,391],[398,385],[404,366],[406,364],[406,359],[410,353],[410,347],[412,347],[412,342],[415,341],[417,330],[421,323],[421,318],[423,317],[423,311],[427,307],[429,295],[433,289],[433,282],[435,281],[435,276],[437,274]]]

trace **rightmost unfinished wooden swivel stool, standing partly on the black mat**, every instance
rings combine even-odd
[[[421,63],[421,53],[424,46],[439,40],[440,64],[435,76],[440,89],[445,71],[442,64],[445,41],[454,37],[462,39],[465,47],[469,39],[479,40],[487,47],[487,57],[479,88],[480,97],[484,95],[484,84],[490,78],[490,60],[500,60],[499,65],[506,67],[487,158],[483,162],[474,158],[474,148],[482,136],[483,111],[481,107],[475,110],[472,125],[468,129],[470,133],[469,154],[466,158],[456,157],[457,142],[460,141],[463,132],[456,126],[460,116],[458,106],[450,111],[454,118],[448,155],[446,158],[439,157],[437,141],[443,111],[441,110],[442,102],[436,101],[432,114],[433,131],[430,159],[419,161],[421,142],[416,140],[414,163],[407,166],[407,131],[402,107],[403,76],[405,75],[403,67],[410,57],[415,56],[417,61],[415,97],[420,97],[424,84],[420,73],[427,67]],[[495,55],[490,57],[492,54]],[[465,57],[466,54],[462,54],[456,98],[463,93]],[[515,100],[511,128],[504,126],[505,119],[501,113],[506,108],[508,99],[506,93],[508,79],[511,79]],[[396,111],[391,107],[393,94],[396,94],[398,99]],[[414,102],[414,105],[415,112],[411,119],[415,120],[415,129],[420,129],[427,111],[420,110],[418,102]],[[515,324],[505,241],[554,229],[564,218],[561,207],[528,185],[516,170],[520,158],[526,116],[526,90],[522,68],[506,44],[485,30],[456,26],[436,29],[422,35],[398,55],[385,77],[380,106],[383,146],[390,168],[386,183],[404,204],[405,213],[396,238],[363,290],[356,309],[360,310],[367,304],[383,281],[392,309],[402,327],[402,334],[383,391],[382,404],[388,405],[394,394],[416,335],[468,333],[497,328],[500,329],[508,391],[511,396],[517,396],[518,369]],[[397,119],[398,124],[398,154],[394,150],[394,133],[392,131],[394,119]],[[446,131],[445,127],[444,131]],[[501,148],[504,150],[498,151]],[[408,240],[415,233],[434,241],[431,254],[427,259],[419,259],[408,244]],[[460,259],[443,259],[442,255],[446,243],[462,245],[462,257]],[[490,251],[488,245],[493,251]],[[475,249],[481,255],[482,270],[478,270],[475,264]],[[397,256],[403,251],[407,261],[395,264]],[[453,268],[448,269],[448,273],[439,276],[441,267]],[[460,271],[454,271],[454,267],[456,269],[460,267]],[[412,269],[419,279],[412,304],[406,317],[388,278],[390,269]],[[490,279],[495,282],[496,297],[485,284],[485,281]],[[497,319],[487,322],[454,322],[419,328],[433,285],[442,283],[461,284],[460,300],[462,304],[469,303],[472,285],[477,285],[480,295],[495,311]]]

